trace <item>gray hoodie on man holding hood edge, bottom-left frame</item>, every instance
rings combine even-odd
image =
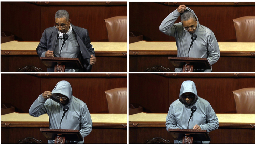
[[[64,105],[56,99],[56,94],[60,93],[67,96],[69,99],[65,106],[69,107],[65,117],[62,120],[61,127],[60,121],[63,116]],[[72,95],[72,88],[69,82],[60,81],[52,90],[51,99],[44,99],[42,94],[35,100],[29,109],[29,114],[38,117],[42,114],[49,116],[50,129],[72,129],[80,130],[82,137],[86,137],[92,131],[92,119],[89,110],[82,100],[75,98]],[[73,141],[76,143],[83,143],[83,141]],[[48,140],[48,143],[54,143]]]

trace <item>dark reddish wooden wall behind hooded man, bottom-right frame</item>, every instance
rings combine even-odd
[[[209,101],[215,113],[236,113],[232,91],[255,87],[254,74],[170,73],[164,74],[166,78],[159,75],[129,74],[129,103],[142,106],[144,112],[167,113],[179,97],[182,82],[192,80],[198,96]]]

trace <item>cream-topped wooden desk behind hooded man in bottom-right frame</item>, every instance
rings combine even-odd
[[[216,114],[219,128],[209,132],[210,143],[255,143],[255,114]],[[156,142],[156,137],[173,143],[166,131],[166,113],[129,116],[129,143]],[[154,141],[155,140],[155,141]]]

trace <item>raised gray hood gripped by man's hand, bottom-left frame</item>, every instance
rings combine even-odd
[[[53,100],[60,103],[59,100],[57,100],[57,94],[65,95],[70,101],[72,97],[72,88],[70,83],[64,80],[60,81],[52,90],[52,96],[54,98]]]

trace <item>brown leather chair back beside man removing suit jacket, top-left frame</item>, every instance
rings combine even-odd
[[[109,42],[127,42],[127,16],[105,19]]]

